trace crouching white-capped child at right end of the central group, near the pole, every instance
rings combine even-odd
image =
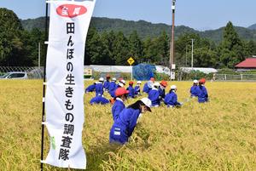
[[[165,104],[167,107],[181,106],[182,104],[177,101],[177,86],[172,85],[169,94],[166,94]]]

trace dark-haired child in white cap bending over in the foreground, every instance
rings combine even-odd
[[[151,101],[148,98],[137,100],[136,103],[129,105],[114,121],[109,133],[109,142],[124,145],[137,125],[140,113],[151,111]]]

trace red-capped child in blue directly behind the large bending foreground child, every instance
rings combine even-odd
[[[124,101],[127,100],[127,94],[129,94],[129,91],[125,88],[116,89],[114,103],[111,110],[113,121],[115,121],[119,117],[120,112],[125,109]]]

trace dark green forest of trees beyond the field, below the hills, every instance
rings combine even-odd
[[[42,18],[44,19],[44,18]],[[38,25],[45,21],[41,19]],[[105,22],[105,21],[108,22]],[[96,22],[97,21],[97,22]],[[119,26],[108,19],[99,22],[92,20],[86,39],[84,65],[129,65],[126,60],[132,57],[138,63],[169,66],[170,33],[169,26],[152,29],[154,34],[143,34],[148,25],[146,21],[129,21],[137,27],[127,30],[109,29]],[[123,20],[120,20],[123,22]],[[128,21],[127,21],[128,22]],[[144,23],[143,23],[144,22]],[[27,24],[30,23],[30,24]],[[108,23],[105,26],[103,24]],[[141,24],[143,23],[142,26]],[[45,60],[44,41],[47,39],[42,27],[32,26],[31,22],[20,20],[9,9],[0,9],[0,66],[37,66],[38,44],[41,47],[41,64]],[[123,26],[124,27],[124,26]],[[150,29],[149,29],[150,30]],[[251,31],[251,32],[250,32]],[[253,30],[245,31],[251,35]],[[156,33],[158,32],[158,33]],[[194,66],[214,68],[234,68],[237,63],[256,54],[256,41],[253,36],[239,36],[237,28],[229,21],[219,29],[219,40],[207,38],[209,31],[195,31],[185,26],[175,28],[175,64],[190,66],[191,40],[194,39]],[[209,34],[213,34],[211,31]],[[216,35],[216,31],[214,32]],[[46,38],[45,38],[46,37]],[[248,38],[248,37],[251,37]]]

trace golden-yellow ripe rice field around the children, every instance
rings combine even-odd
[[[189,98],[192,83],[168,84],[167,91],[177,85],[179,101]],[[209,103],[194,99],[179,109],[153,108],[123,146],[108,144],[111,105],[89,105],[95,94],[85,94],[87,170],[256,170],[256,83],[206,86]],[[0,170],[39,170],[42,80],[1,80],[0,87]],[[46,157],[47,130],[44,138]],[[44,165],[44,170],[73,169]]]

